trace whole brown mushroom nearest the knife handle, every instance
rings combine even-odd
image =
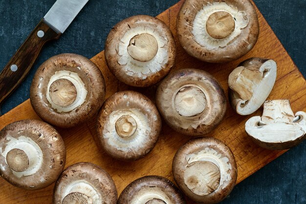
[[[67,128],[85,122],[104,102],[105,81],[99,68],[87,58],[61,54],[37,70],[30,90],[37,115],[55,126]]]

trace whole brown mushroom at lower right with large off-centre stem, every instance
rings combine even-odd
[[[172,170],[183,193],[203,204],[222,201],[237,180],[237,164],[230,148],[208,137],[182,145],[175,154]]]

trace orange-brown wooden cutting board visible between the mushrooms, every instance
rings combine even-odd
[[[228,76],[240,61],[250,57],[273,59],[278,64],[278,76],[269,99],[289,99],[294,113],[306,111],[306,81],[257,8],[261,32],[253,50],[237,61],[226,64],[211,64],[190,57],[178,42],[175,21],[182,2],[179,1],[158,16],[160,20],[170,26],[175,36],[177,60],[174,69],[197,68],[208,71],[218,79],[227,93]],[[156,86],[135,89],[118,82],[109,72],[104,59],[104,51],[93,57],[91,61],[96,63],[105,77],[107,97],[120,90],[132,89],[142,92],[154,100]],[[234,152],[238,165],[237,184],[285,152],[262,149],[253,143],[245,133],[244,123],[250,117],[261,114],[262,109],[250,116],[240,116],[227,103],[227,111],[223,122],[216,130],[207,135],[223,141]],[[23,119],[39,119],[29,100],[1,116],[0,129],[11,122]],[[117,186],[118,195],[129,183],[142,176],[160,175],[174,181],[171,169],[172,159],[179,146],[192,139],[192,137],[176,133],[163,122],[162,134],[151,153],[136,162],[121,162],[98,150],[94,142],[95,120],[95,118],[92,118],[87,123],[72,129],[57,128],[66,145],[66,167],[78,162],[98,164],[109,172]],[[54,184],[41,190],[28,191],[14,187],[0,178],[0,186],[0,204],[50,204],[52,202]],[[189,201],[189,203],[192,202]]]

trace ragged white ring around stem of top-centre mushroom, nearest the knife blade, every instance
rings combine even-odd
[[[159,28],[160,25],[144,20],[139,20],[135,23],[139,24],[139,26],[128,30],[120,39],[120,43],[116,47],[117,54],[120,56],[118,63],[123,66],[127,75],[146,79],[148,75],[160,71],[163,65],[167,63],[168,52],[165,46],[168,44],[169,39],[166,34],[163,33],[162,28]],[[141,24],[148,25],[143,26]],[[131,39],[140,34],[149,34],[157,41],[158,50],[155,57],[150,61],[137,61],[133,59],[128,52]]]

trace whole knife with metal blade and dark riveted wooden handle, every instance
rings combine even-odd
[[[59,39],[88,0],[57,0],[0,73],[0,104],[29,73],[45,42]]]

